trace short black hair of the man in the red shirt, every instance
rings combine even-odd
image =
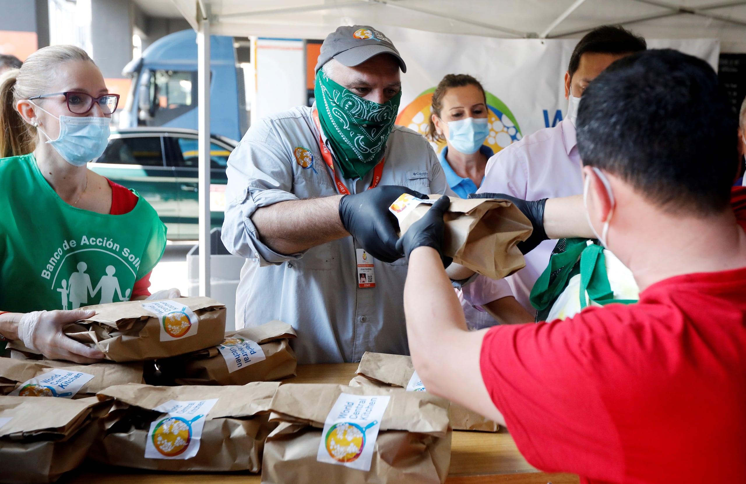
[[[709,63],[649,50],[616,60],[583,92],[577,147],[584,165],[666,211],[713,214],[730,204],[736,129]]]

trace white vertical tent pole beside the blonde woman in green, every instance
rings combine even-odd
[[[197,130],[199,295],[210,296],[210,20],[199,2],[197,31]]]

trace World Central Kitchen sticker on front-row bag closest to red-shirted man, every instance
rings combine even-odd
[[[388,395],[340,394],[327,415],[316,460],[370,471]]]

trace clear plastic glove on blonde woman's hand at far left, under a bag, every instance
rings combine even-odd
[[[95,363],[104,353],[68,338],[62,329],[69,323],[91,317],[95,311],[34,311],[26,313],[18,323],[18,337],[25,347],[42,353],[48,359],[64,359],[75,363]]]

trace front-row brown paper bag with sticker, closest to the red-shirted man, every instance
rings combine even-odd
[[[262,483],[444,483],[451,463],[448,401],[426,392],[280,385]]]

